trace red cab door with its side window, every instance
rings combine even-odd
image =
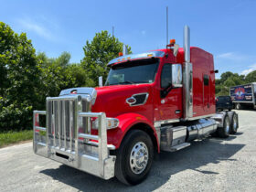
[[[158,110],[160,120],[174,120],[182,115],[182,88],[171,88],[172,84],[172,64],[165,63],[161,71],[160,92],[158,93]],[[168,93],[163,97],[162,91],[168,89]]]

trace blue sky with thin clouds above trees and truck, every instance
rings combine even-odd
[[[63,51],[80,62],[83,46],[108,30],[133,53],[165,48],[168,37],[183,46],[190,27],[191,46],[212,53],[215,69],[248,74],[256,69],[255,0],[0,0],[0,21],[25,32],[37,52],[57,58]]]

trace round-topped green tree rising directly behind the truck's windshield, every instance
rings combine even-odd
[[[129,53],[132,53],[130,47],[127,49]],[[86,69],[90,79],[93,80],[94,86],[97,85],[99,76],[106,80],[108,62],[117,58],[118,53],[122,50],[123,43],[118,38],[112,37],[108,31],[96,33],[91,42],[86,41],[86,45],[83,47],[84,58],[81,60],[81,65]]]

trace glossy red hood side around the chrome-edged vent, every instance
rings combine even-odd
[[[112,85],[95,88],[97,98],[91,112],[105,112],[107,117],[116,117],[126,112],[137,112],[153,118],[152,84]],[[145,102],[131,106],[126,100],[134,94],[147,94]]]

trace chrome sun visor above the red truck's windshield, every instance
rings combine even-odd
[[[148,56],[150,55],[150,56]],[[118,62],[125,62],[127,60],[131,59],[146,59],[146,58],[163,58],[165,56],[164,51],[149,51],[145,53],[138,53],[138,54],[130,54],[130,55],[124,55],[119,58],[112,59],[107,66],[112,65],[113,63],[118,63]]]

